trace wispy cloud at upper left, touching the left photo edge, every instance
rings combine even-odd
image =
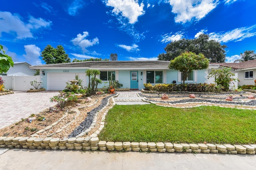
[[[32,31],[41,27],[50,27],[52,21],[45,21],[42,18],[34,18],[30,16],[28,23],[24,23],[18,14],[11,14],[10,12],[0,12],[0,37],[2,32],[15,33],[17,39],[33,38]]]

